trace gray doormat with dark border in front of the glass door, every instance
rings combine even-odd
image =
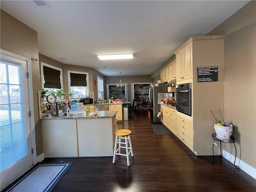
[[[4,192],[51,192],[74,162],[39,163],[14,181]]]

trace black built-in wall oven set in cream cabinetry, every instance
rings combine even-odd
[[[191,116],[191,83],[176,86],[176,110]]]

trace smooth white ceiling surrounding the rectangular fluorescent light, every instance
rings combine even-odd
[[[0,7],[38,32],[40,54],[126,76],[152,74],[188,38],[207,34],[248,2],[48,0],[48,6],[37,6],[1,0]],[[97,58],[121,53],[134,58]]]

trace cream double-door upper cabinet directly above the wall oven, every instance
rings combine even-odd
[[[176,54],[176,80],[180,81],[192,78],[192,42],[188,43],[181,50],[174,52],[174,54]]]

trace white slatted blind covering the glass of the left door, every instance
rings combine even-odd
[[[21,68],[0,62],[0,171],[28,154]],[[15,92],[12,92],[15,90]]]

